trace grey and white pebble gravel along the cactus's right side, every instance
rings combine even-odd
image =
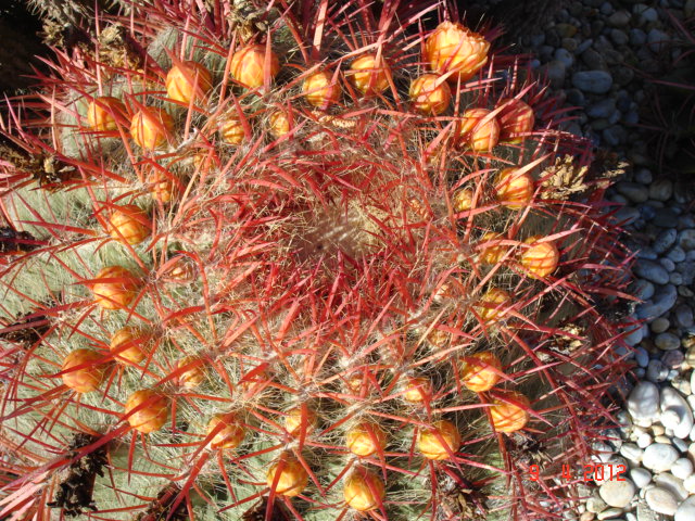
[[[628,472],[582,488],[581,521],[695,521],[695,190],[659,168],[654,132],[640,126],[655,96],[646,75],[678,58],[669,13],[692,17],[695,0],[564,2],[520,41],[552,89],[578,107],[567,129],[631,165],[609,199],[623,204],[616,219],[636,252],[633,294],[644,301],[628,336],[635,378],[622,428],[595,447],[597,461]]]

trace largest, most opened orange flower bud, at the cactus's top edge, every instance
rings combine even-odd
[[[462,24],[442,22],[425,42],[425,60],[432,71],[454,71],[450,81],[470,79],[488,63],[490,42]]]

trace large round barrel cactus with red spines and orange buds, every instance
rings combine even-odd
[[[626,369],[589,144],[443,2],[207,3],[9,106],[2,516],[571,509]]]

